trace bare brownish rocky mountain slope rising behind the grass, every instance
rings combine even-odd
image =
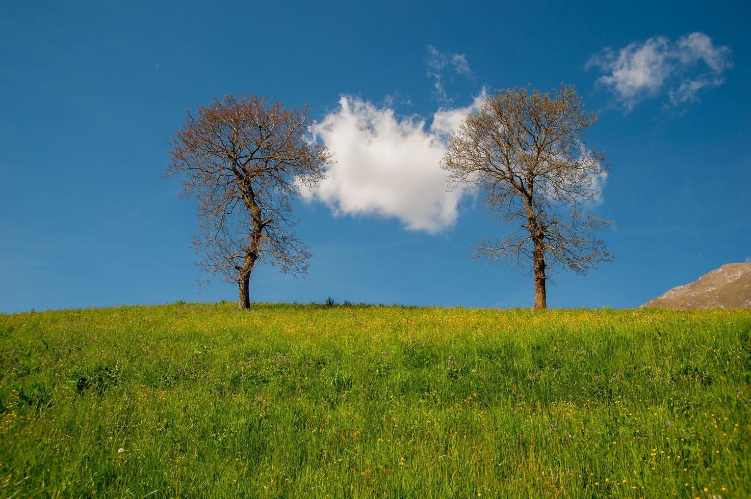
[[[641,305],[648,308],[751,308],[751,263],[725,263]]]

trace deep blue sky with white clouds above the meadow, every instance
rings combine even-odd
[[[439,137],[436,116],[484,88],[560,82],[600,111],[588,143],[612,171],[590,211],[613,221],[617,259],[556,275],[548,305],[640,305],[751,261],[749,17],[746,2],[6,2],[0,312],[235,300],[219,278],[194,286],[195,206],[159,176],[185,109],[243,91],[309,104],[333,143],[353,120],[383,127],[337,163],[374,184],[297,203],[309,275],[262,266],[252,300],[531,306],[530,278],[469,260],[510,227],[436,189],[436,151],[400,141]]]

